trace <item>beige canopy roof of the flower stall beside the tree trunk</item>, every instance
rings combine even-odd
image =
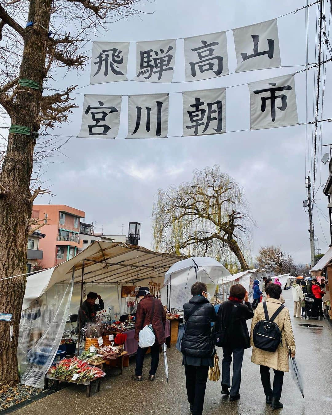
[[[68,281],[74,271],[74,283],[125,283],[164,277],[170,266],[186,256],[150,251],[124,242],[95,241],[78,255],[58,266],[27,277],[23,310],[51,286]]]

